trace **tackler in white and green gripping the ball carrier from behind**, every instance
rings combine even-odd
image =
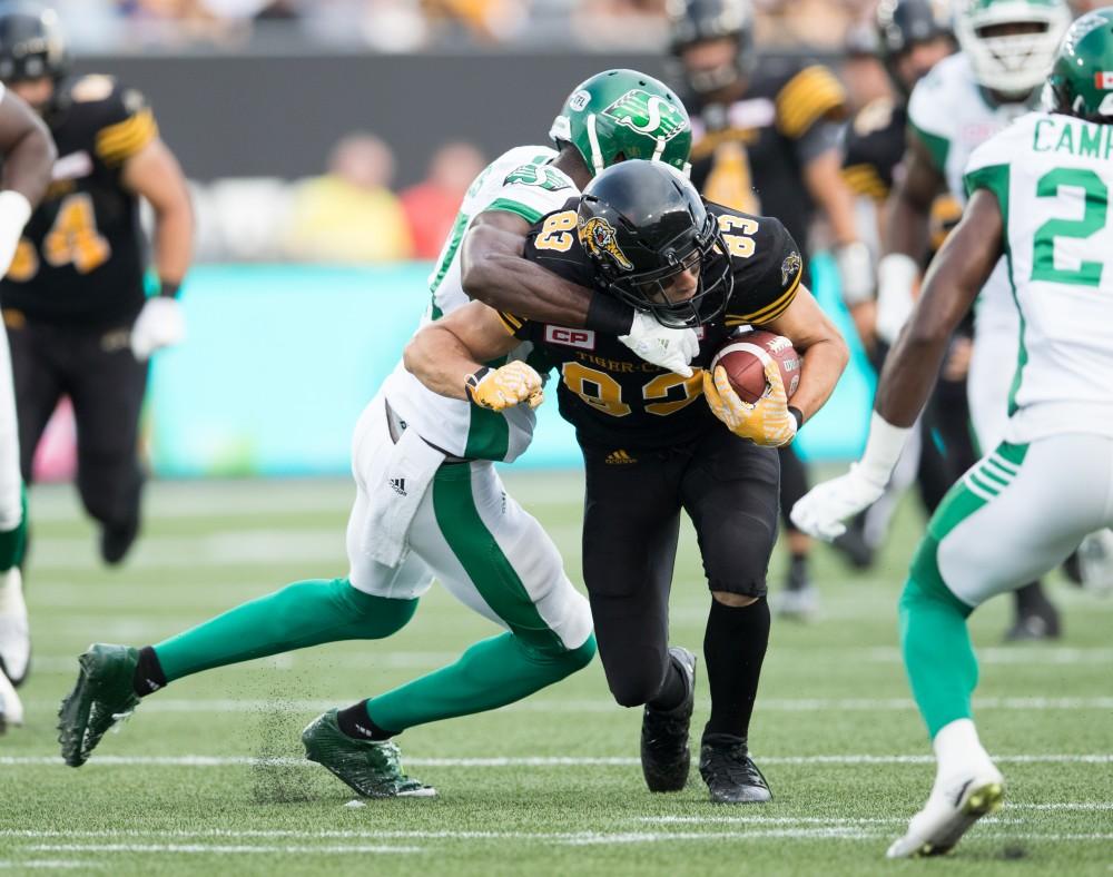
[[[691,128],[683,105],[651,77],[608,70],[569,96],[551,137],[555,149],[511,149],[469,189],[431,277],[423,322],[461,307],[475,287],[484,300],[536,319],[617,327],[640,356],[691,376],[695,332],[595,302],[591,290],[526,263],[521,248],[534,221],[609,165],[644,158],[684,170]],[[436,395],[400,363],[355,430],[347,575],[295,582],[155,646],[92,646],[59,713],[66,762],[85,763],[140,697],[176,679],[324,642],[391,635],[413,615],[434,575],[505,632],[475,643],[453,664],[311,722],[302,735],[306,757],[361,795],[434,794],[402,772],[391,738],[504,706],[584,667],[595,651],[588,602],[569,582],[552,540],[508,495],[494,469],[518,457],[532,437],[541,384],[524,367],[530,352],[523,345],[476,373],[470,401]],[[492,410],[508,400],[530,404],[505,416]]]

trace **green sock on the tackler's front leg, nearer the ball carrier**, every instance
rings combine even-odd
[[[571,651],[531,649],[513,633],[476,642],[460,660],[367,701],[367,715],[384,730],[469,716],[504,707],[587,667],[595,638]]]

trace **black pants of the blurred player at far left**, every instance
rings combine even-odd
[[[111,528],[137,523],[147,363],[131,354],[129,327],[91,329],[14,316],[7,322],[23,480],[31,483],[42,431],[58,401],[69,396],[77,422],[77,485],[86,511]]]

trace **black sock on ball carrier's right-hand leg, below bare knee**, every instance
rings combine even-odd
[[[711,600],[703,634],[703,660],[711,688],[707,733],[746,738],[769,646],[769,604],[762,597],[746,607]]]

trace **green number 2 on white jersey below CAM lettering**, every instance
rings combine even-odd
[[[1048,219],[1036,229],[1032,253],[1032,279],[1075,286],[1100,286],[1102,282],[1100,262],[1082,262],[1074,269],[1055,266],[1055,238],[1086,238],[1104,228],[1109,213],[1109,188],[1093,170],[1060,167],[1040,177],[1036,183],[1036,197],[1056,198],[1061,186],[1082,189],[1085,194],[1085,210],[1081,219]]]

